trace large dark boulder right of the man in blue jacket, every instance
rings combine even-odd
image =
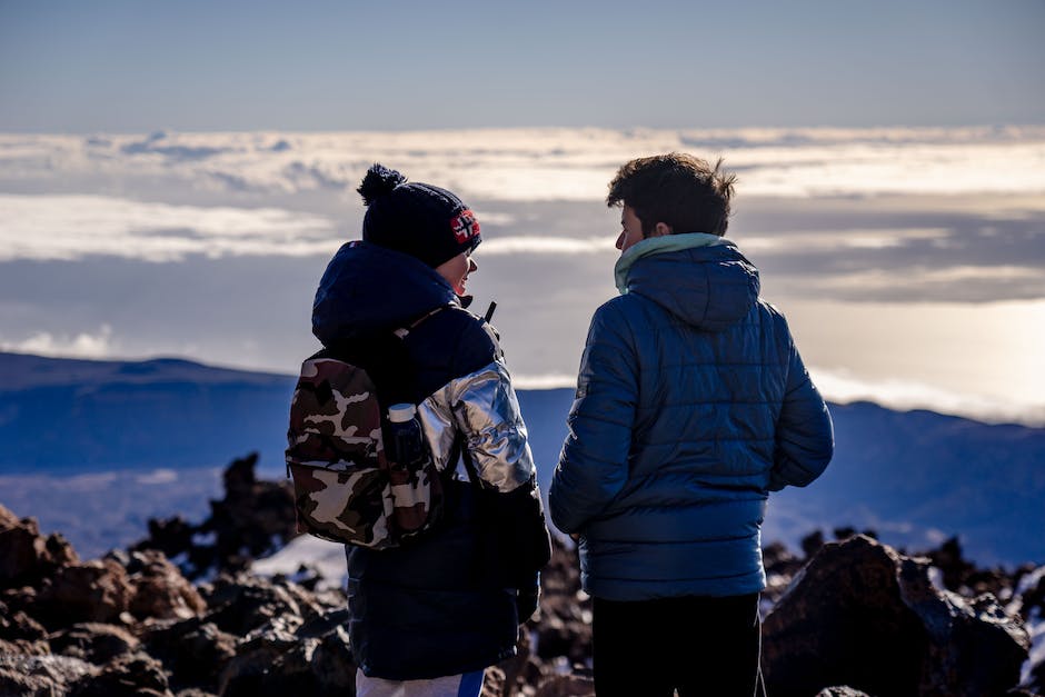
[[[925,559],[866,536],[824,545],[764,624],[774,697],[846,685],[874,695],[985,697],[1019,680],[1028,639],[993,596],[936,589]]]

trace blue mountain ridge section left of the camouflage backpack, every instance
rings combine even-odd
[[[160,358],[0,354],[0,472],[282,459],[293,378]]]

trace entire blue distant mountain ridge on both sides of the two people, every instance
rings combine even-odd
[[[282,476],[293,382],[178,359],[0,354],[0,479],[219,467],[251,451],[259,475]],[[570,389],[519,390],[546,492],[571,400]],[[1045,429],[869,402],[830,408],[835,459],[807,489],[770,498],[764,541],[853,526],[915,550],[961,536],[979,564],[1045,561]],[[9,496],[0,486],[0,502],[41,515]]]

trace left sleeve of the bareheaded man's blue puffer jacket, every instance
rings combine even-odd
[[[591,319],[569,432],[548,490],[551,520],[564,532],[581,532],[627,482],[637,401],[635,345],[610,301]]]

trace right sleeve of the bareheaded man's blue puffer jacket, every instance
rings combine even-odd
[[[835,439],[827,405],[809,378],[798,349],[789,343],[787,388],[777,422],[769,490],[804,487],[823,474]]]

